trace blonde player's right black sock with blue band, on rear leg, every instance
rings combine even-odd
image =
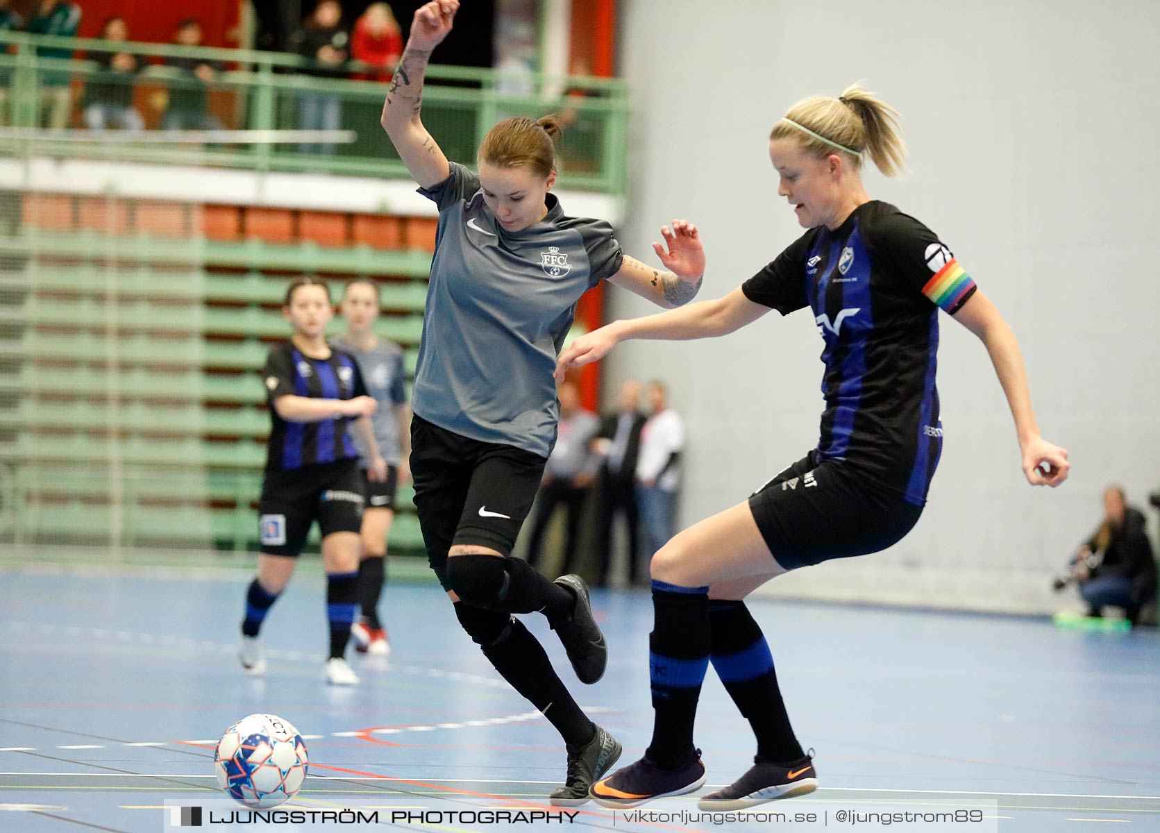
[[[805,753],[793,737],[777,686],[774,658],[745,602],[712,601],[712,664],[741,715],[757,736],[757,756],[784,763]]]

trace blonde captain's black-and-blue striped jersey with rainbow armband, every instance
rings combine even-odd
[[[871,201],[834,231],[807,231],[741,289],[783,316],[813,310],[825,341],[821,457],[925,504],[943,437],[938,309],[954,314],[976,290],[950,249]]]

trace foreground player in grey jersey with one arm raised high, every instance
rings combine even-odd
[[[420,119],[432,50],[451,30],[456,0],[415,12],[383,107],[383,126],[420,194],[440,209],[412,405],[415,508],[432,568],[463,629],[496,671],[559,731],[566,783],[553,804],[588,801],[621,745],[577,705],[516,613],[543,613],[577,676],[596,682],[608,647],[578,575],[554,582],[512,546],[556,441],[552,372],[580,296],[602,280],[661,306],[688,302],[704,258],[694,226],[662,233],[672,271],[624,256],[603,220],[568,217],[556,182],[551,118],[508,118],[479,149],[479,174],[449,162]],[[693,256],[689,256],[693,255]]]

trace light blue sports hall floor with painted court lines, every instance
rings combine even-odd
[[[362,684],[335,689],[322,682],[317,560],[302,565],[267,620],[269,674],[242,676],[237,631],[249,572],[239,565],[232,557],[146,566],[0,552],[0,831],[165,830],[166,801],[222,797],[212,747],[255,711],[291,720],[306,738],[310,776],[296,806],[357,802],[378,807],[380,819],[400,807],[550,809],[545,796],[564,776],[557,736],[492,671],[436,585],[387,587],[392,654],[375,661],[351,650]],[[611,655],[592,687],[575,682],[543,622],[525,621],[578,701],[624,744],[628,763],[652,726],[651,604],[631,591],[593,599]],[[950,807],[981,821],[937,826],[921,817],[906,826],[873,817],[858,826],[1160,831],[1154,630],[1082,633],[1031,618],[752,607],[798,737],[817,749],[820,789],[759,809],[791,818],[698,819],[695,798],[680,797],[640,807],[655,811],[647,823],[588,804],[566,823],[510,828],[813,831],[842,826],[843,809]],[[754,745],[711,671],[701,703],[708,792],[747,768]],[[817,816],[795,821],[803,812]],[[433,818],[398,826],[496,828]]]

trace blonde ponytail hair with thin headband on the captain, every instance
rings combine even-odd
[[[898,176],[906,165],[906,143],[898,124],[898,110],[867,92],[861,84],[847,87],[836,99],[814,95],[799,101],[774,125],[769,138],[797,139],[807,151],[821,157],[848,152],[860,166],[864,154],[886,176]]]

